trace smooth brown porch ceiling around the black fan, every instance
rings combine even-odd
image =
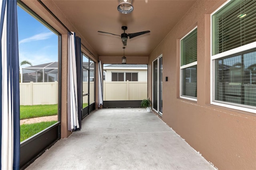
[[[134,10],[130,14],[118,12],[118,0],[53,2],[99,56],[123,55],[120,37],[97,32],[100,30],[121,35],[122,26],[128,26],[126,33],[150,30],[149,34],[128,39],[125,49],[126,56],[148,56],[193,6],[195,0],[134,0]]]

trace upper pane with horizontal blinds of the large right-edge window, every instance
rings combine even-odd
[[[212,55],[255,42],[255,18],[255,0],[233,0],[212,15]]]

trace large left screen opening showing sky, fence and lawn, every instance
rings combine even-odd
[[[58,122],[60,102],[61,36],[32,10],[18,2],[20,61],[20,142]],[[51,121],[40,119],[28,125],[25,119],[56,115]],[[50,129],[48,129],[50,130]],[[54,134],[54,132],[51,132]],[[54,134],[58,136],[58,134]],[[30,139],[28,139],[30,138]],[[27,140],[28,139],[28,140]],[[25,143],[26,143],[25,142]],[[26,145],[26,144],[25,144]],[[24,155],[23,155],[24,156]]]

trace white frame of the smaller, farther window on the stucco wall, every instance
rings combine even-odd
[[[186,37],[186,36],[188,36],[191,32],[193,32],[194,30],[196,30],[197,29],[197,26],[195,27],[195,28],[193,28],[192,30],[190,30],[190,32],[188,32],[184,37],[182,37],[181,39],[180,39],[180,63],[181,63],[181,41]],[[197,59],[196,59],[196,61],[195,62],[193,62],[193,63],[189,63],[189,64],[186,64],[186,65],[182,65],[182,66],[180,66],[180,98],[182,98],[182,99],[188,99],[188,100],[192,100],[192,101],[197,101],[197,97],[196,98],[193,98],[193,97],[186,97],[186,96],[183,96],[182,95],[182,69],[185,69],[185,68],[187,68],[187,67],[192,67],[192,66],[194,66],[194,65],[197,65]],[[197,71],[197,69],[196,69],[196,71]],[[197,74],[197,73],[196,73]],[[196,87],[197,88],[197,87]]]

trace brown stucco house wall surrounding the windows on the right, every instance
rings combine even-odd
[[[225,1],[198,1],[150,54],[148,93],[152,96],[152,61],[163,55],[163,115],[206,160],[219,169],[256,169],[256,114],[210,104],[210,14]],[[198,28],[197,102],[180,99],[180,38]]]

